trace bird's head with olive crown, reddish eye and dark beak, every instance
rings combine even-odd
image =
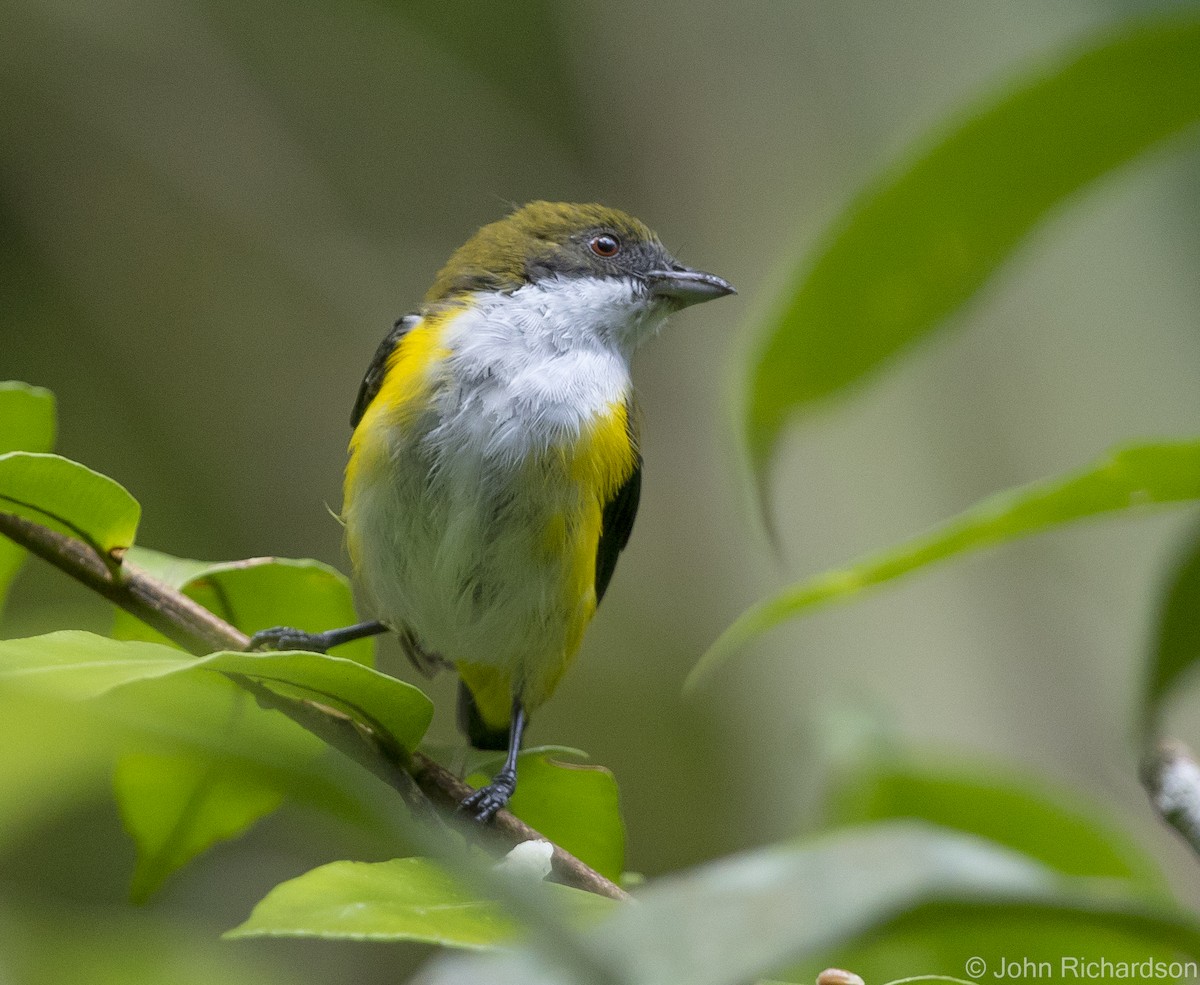
[[[628,307],[638,322],[733,294],[713,274],[683,266],[641,221],[604,205],[532,202],[475,233],[455,251],[427,302],[527,286]],[[601,300],[611,299],[611,301]]]

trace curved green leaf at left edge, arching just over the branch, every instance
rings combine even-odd
[[[82,540],[103,557],[133,543],[142,507],[119,482],[58,455],[0,455],[0,512]]]

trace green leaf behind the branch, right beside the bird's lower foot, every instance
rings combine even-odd
[[[625,861],[625,824],[617,780],[604,767],[563,762],[575,750],[529,749],[517,761],[516,793],[509,803],[517,817],[610,879],[619,879]],[[467,782],[479,787],[503,764],[493,757]]]

